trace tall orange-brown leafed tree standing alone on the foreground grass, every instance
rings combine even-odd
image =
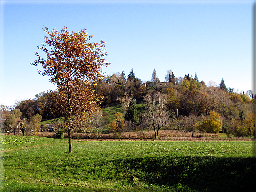
[[[44,31],[49,37],[45,36],[46,44],[38,46],[38,49],[45,53],[46,58],[36,53],[38,60],[31,64],[42,65],[44,71],[38,70],[39,74],[50,76],[50,82],[57,86],[53,111],[64,115],[69,152],[73,152],[74,120],[76,124],[84,125],[98,101],[92,82],[101,77],[101,67],[108,65],[103,58],[106,55],[105,42],[88,43],[92,36],[88,36],[86,29],[75,33],[69,32],[66,27],[60,32],[55,28],[49,31],[45,27]]]

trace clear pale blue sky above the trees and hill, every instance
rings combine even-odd
[[[107,75],[133,68],[144,82],[155,69],[164,81],[172,69],[175,77],[196,73],[199,81],[219,84],[223,76],[227,87],[251,90],[253,3],[1,0],[0,104],[56,89],[30,64],[44,27],[87,29],[92,41],[105,41]]]

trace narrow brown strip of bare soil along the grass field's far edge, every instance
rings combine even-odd
[[[256,141],[253,138],[231,137],[172,137],[161,139],[72,139],[74,141]]]

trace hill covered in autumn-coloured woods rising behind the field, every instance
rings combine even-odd
[[[121,113],[122,119],[125,115],[118,98],[134,97],[138,107],[137,126],[143,129],[143,123],[140,121],[145,112],[143,96],[160,92],[167,96],[169,124],[165,126],[166,129],[177,129],[177,125],[183,130],[200,129],[199,125],[214,111],[217,115],[215,118],[222,122],[223,132],[232,136],[255,137],[255,95],[251,90],[234,92],[225,85],[223,78],[219,84],[213,81],[206,84],[204,81],[198,81],[197,74],[177,78],[172,70],[168,70],[165,82],[160,82],[154,70],[151,81],[142,83],[132,69],[127,77],[123,71],[107,75],[94,83],[95,92],[103,96],[100,105],[104,107],[105,126],[114,120],[114,113]],[[54,94],[54,91],[39,93],[34,99],[17,102],[14,108],[20,109],[21,118],[27,120],[37,113],[42,116],[42,120],[60,117],[61,114],[53,114],[49,110]],[[112,111],[109,111],[109,106],[112,106]],[[201,126],[201,131],[207,130]]]

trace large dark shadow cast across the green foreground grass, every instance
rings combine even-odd
[[[128,170],[148,184],[199,191],[251,191],[256,178],[256,158],[162,156],[112,163],[117,172]]]

